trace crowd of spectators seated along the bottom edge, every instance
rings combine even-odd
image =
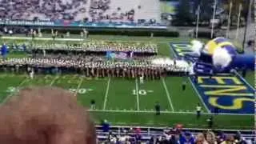
[[[145,128],[144,128],[145,129]],[[142,130],[140,127],[102,130],[98,132],[98,143],[111,144],[254,144],[253,132],[182,130],[182,127],[165,130]]]

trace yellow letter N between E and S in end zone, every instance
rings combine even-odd
[[[204,94],[206,95],[230,95],[230,96],[254,96],[254,94],[250,93],[234,93],[239,90],[246,90],[246,86],[220,86],[220,85],[200,85],[206,88],[219,88],[222,90],[210,90],[206,91]]]

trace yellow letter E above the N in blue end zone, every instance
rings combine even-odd
[[[242,82],[236,77],[212,77],[218,82],[218,84],[226,84],[225,79],[232,80],[236,85],[241,85]],[[203,83],[204,79],[210,79],[210,77],[198,77],[198,83]]]

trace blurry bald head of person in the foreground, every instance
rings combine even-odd
[[[74,95],[52,87],[20,90],[0,106],[1,144],[96,144],[94,124]]]

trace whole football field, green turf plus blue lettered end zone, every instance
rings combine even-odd
[[[146,37],[117,37],[93,36],[89,39],[120,41],[120,42],[156,42],[159,54],[174,58],[175,54],[187,51],[184,42],[188,39],[180,38],[146,38]],[[23,43],[27,40],[4,39],[7,43]],[[35,43],[47,43],[36,40]],[[170,42],[182,42],[182,47],[170,49]],[[10,54],[10,57],[22,58],[26,54]],[[200,78],[199,78],[200,79]],[[193,79],[192,79],[193,80]],[[182,90],[182,82],[186,81],[186,90]],[[74,93],[78,104],[89,110],[94,122],[100,124],[108,120],[111,125],[119,126],[174,126],[183,124],[186,127],[206,128],[206,119],[210,118],[213,101],[222,104],[222,114],[214,114],[214,128],[219,129],[254,129],[254,115],[250,114],[254,96],[252,89],[246,84],[254,84],[254,71],[246,76],[246,81],[240,77],[202,78],[198,84],[191,78],[168,77],[143,84],[139,79],[126,78],[86,78],[77,74],[63,75],[35,75],[34,79],[26,74],[0,73],[0,102],[4,103],[14,96],[17,91],[27,86],[58,86]],[[223,95],[224,94],[224,95]],[[243,102],[238,106],[235,98]],[[95,100],[96,109],[90,110],[90,101]],[[158,102],[162,114],[157,116],[154,105]],[[202,106],[202,118],[197,119],[195,110],[198,103]],[[238,102],[239,104],[239,102]],[[225,110],[225,109],[227,110]]]

